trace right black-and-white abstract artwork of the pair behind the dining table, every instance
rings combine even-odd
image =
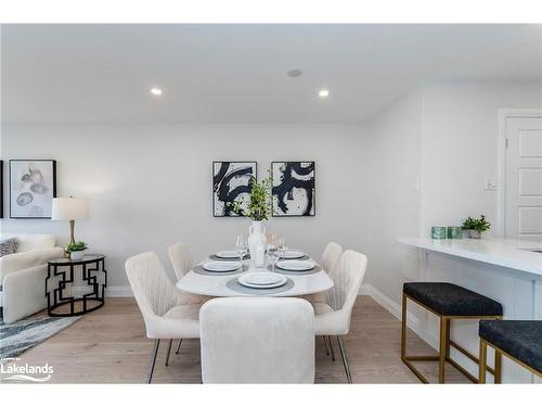
[[[314,216],[314,162],[273,162],[273,216]]]

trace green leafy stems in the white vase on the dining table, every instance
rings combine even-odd
[[[253,220],[268,220],[271,213],[271,178],[264,178],[257,181],[251,177],[248,182],[250,186],[250,201],[248,202],[246,211],[243,208],[245,202],[243,196],[234,202],[228,203],[228,206],[237,215],[247,216]]]

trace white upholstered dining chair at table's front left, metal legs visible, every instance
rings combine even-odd
[[[160,340],[199,338],[198,314],[202,304],[177,291],[156,254],[147,252],[130,257],[125,264],[128,281],[145,322],[146,335],[154,340],[147,383],[151,383]]]

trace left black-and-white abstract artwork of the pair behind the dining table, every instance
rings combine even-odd
[[[253,177],[257,178],[256,162],[214,162],[212,215],[238,216],[228,204],[241,199],[248,204]]]

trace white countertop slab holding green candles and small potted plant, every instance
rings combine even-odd
[[[411,246],[542,276],[542,242],[507,239],[398,238]]]

